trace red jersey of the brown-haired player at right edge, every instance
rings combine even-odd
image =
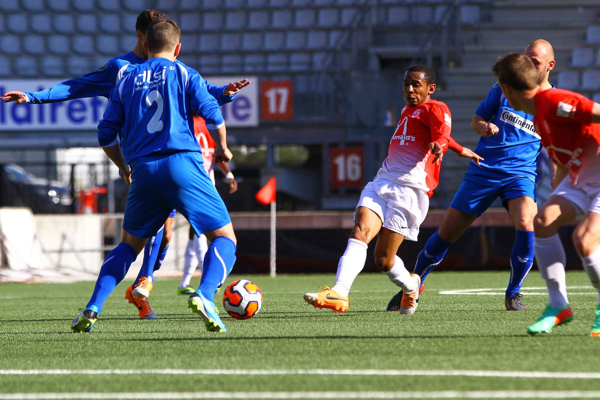
[[[535,95],[533,123],[542,146],[555,161],[570,170],[571,183],[577,176],[586,152],[600,145],[600,124],[592,124],[592,107],[589,98],[565,89],[539,91]]]

